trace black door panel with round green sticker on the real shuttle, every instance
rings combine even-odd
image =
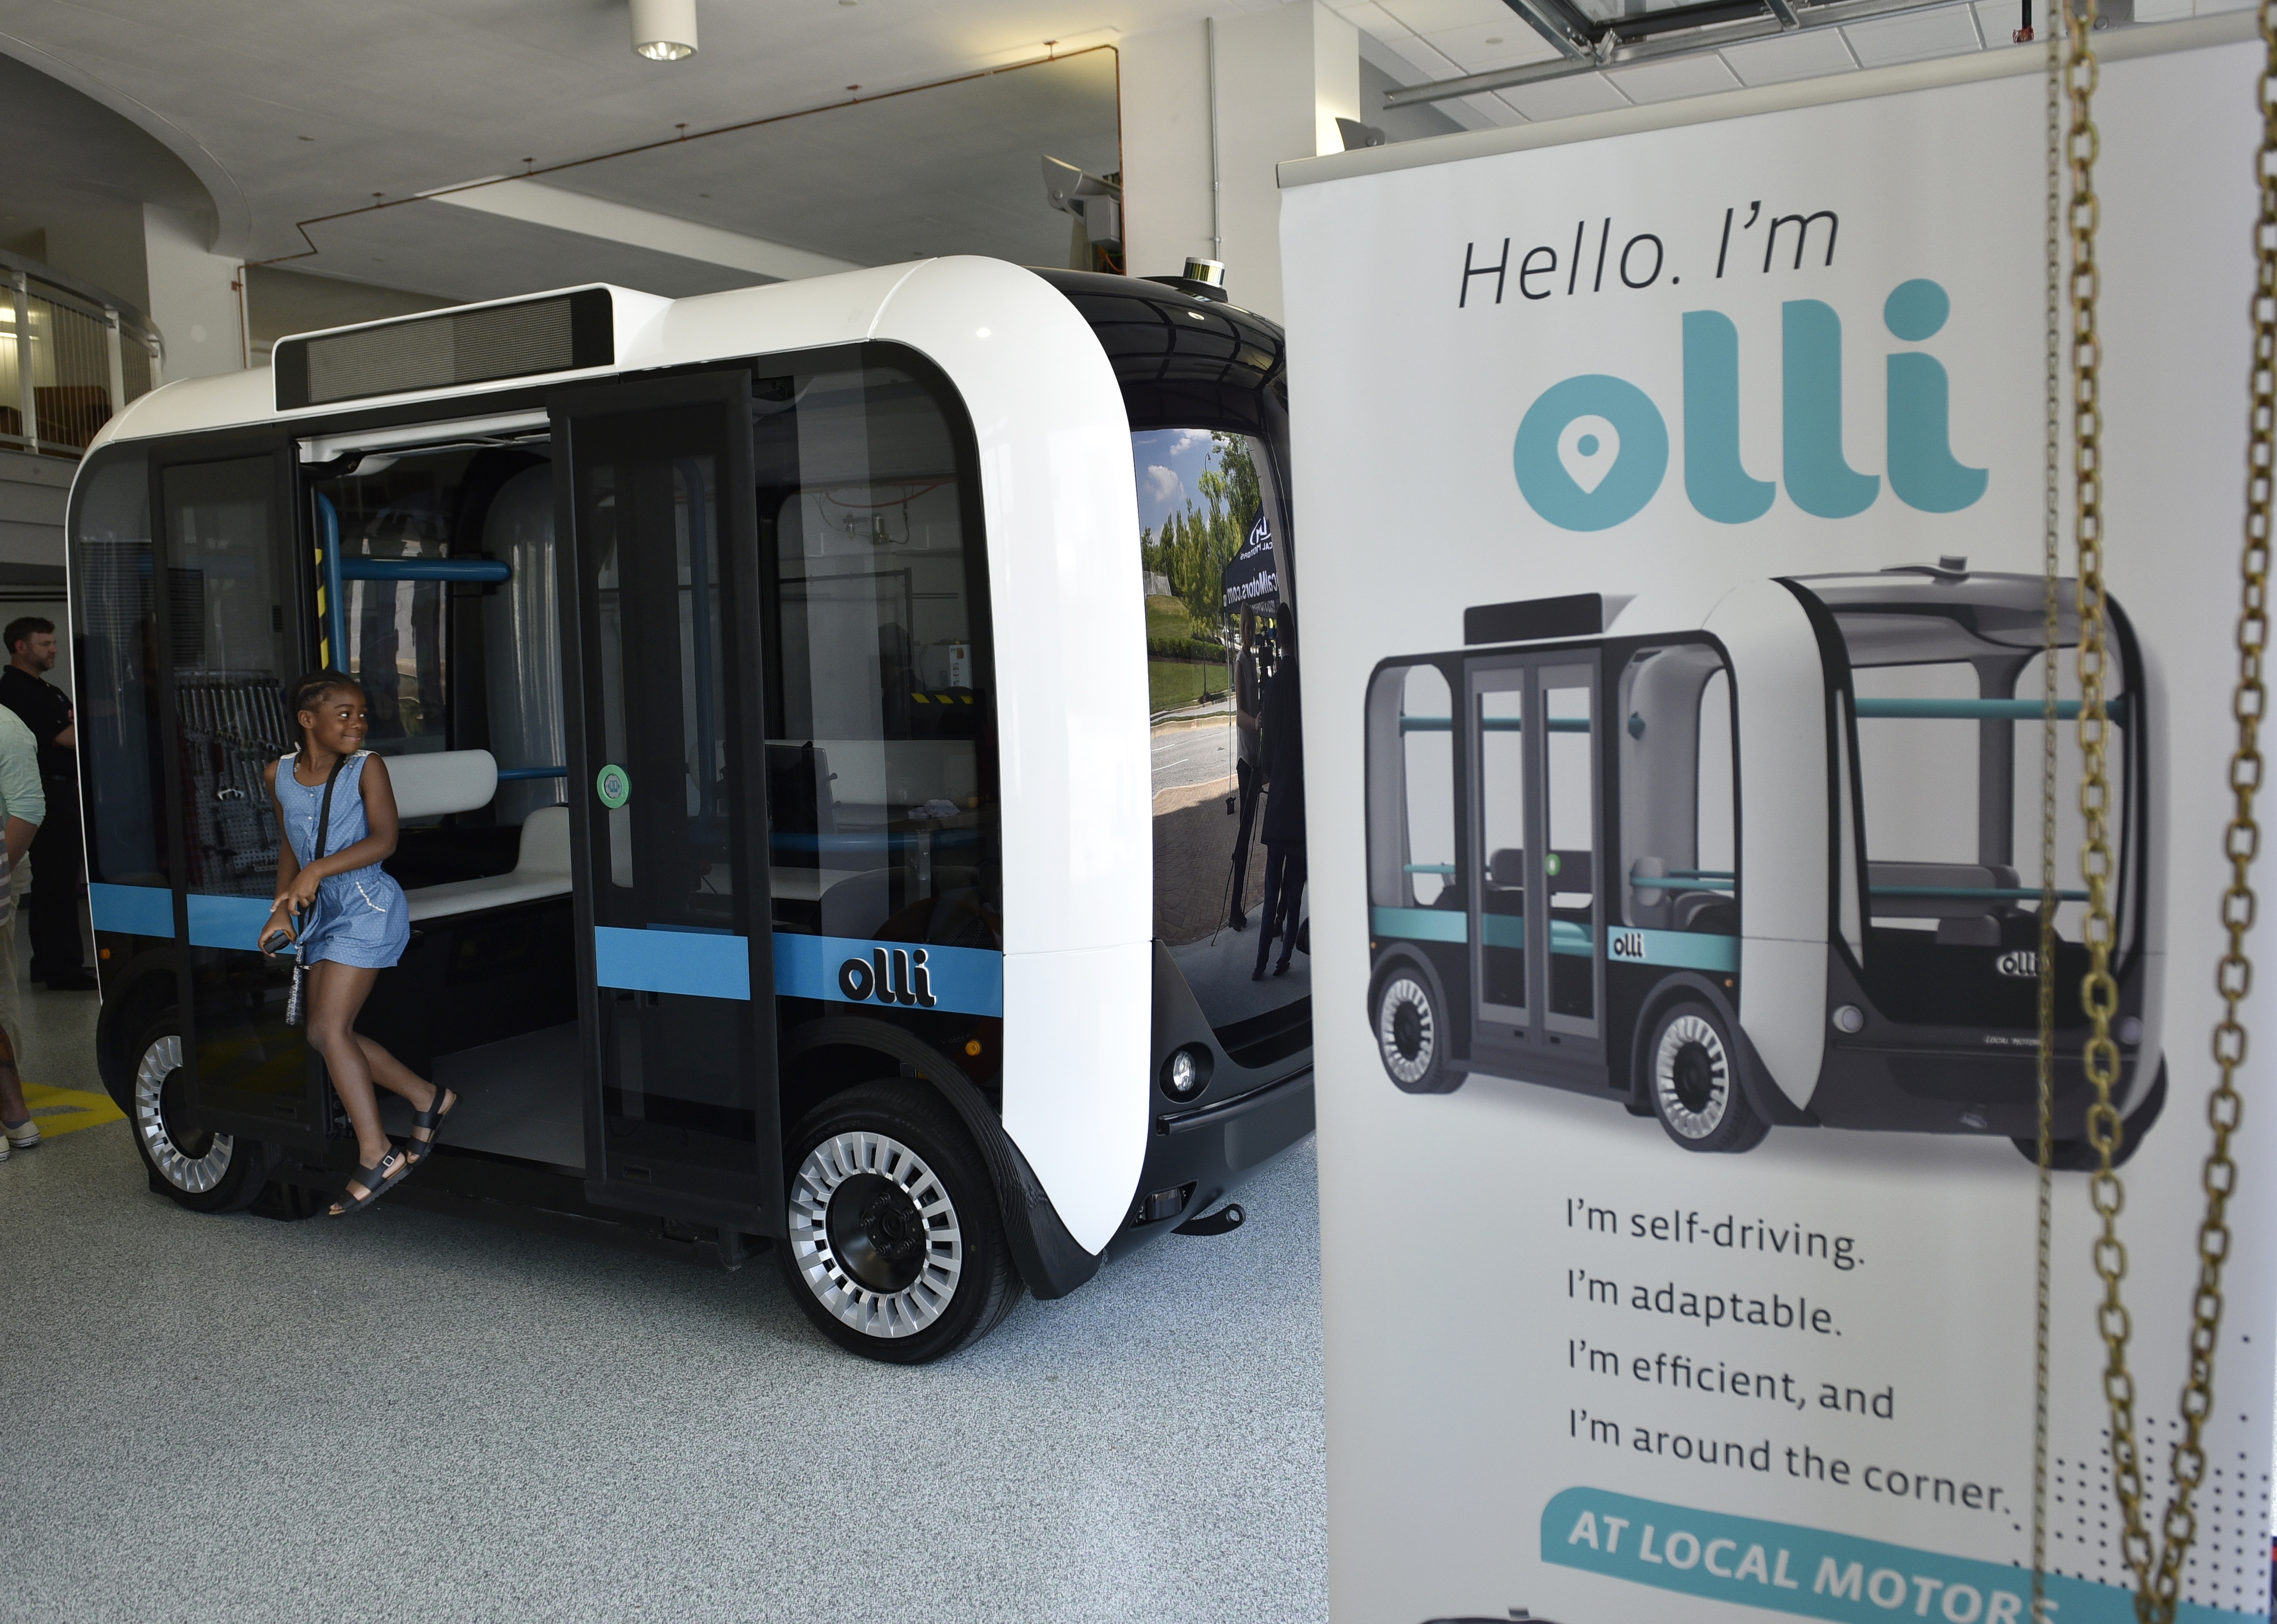
[[[553,399],[599,1203],[781,1228],[751,378]]]

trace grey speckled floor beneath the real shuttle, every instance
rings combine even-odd
[[[0,1619],[1327,1613],[1312,1141],[904,1371],[770,1257],[198,1219],[125,1134],[0,1164]]]

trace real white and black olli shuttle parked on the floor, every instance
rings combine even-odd
[[[396,1198],[767,1237],[902,1362],[1200,1216],[1309,1132],[1312,1004],[1157,929],[1225,872],[1157,884],[1164,435],[1248,465],[1291,583],[1282,335],[1189,282],[581,287],[134,401],[68,524],[100,1066],[153,1189],[291,1216],[351,1168],[253,945],[260,770],[328,663],[414,922],[360,1025],[465,1096]]]

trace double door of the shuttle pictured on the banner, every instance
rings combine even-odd
[[[1469,665],[1473,1050],[1603,1064],[1598,656]]]

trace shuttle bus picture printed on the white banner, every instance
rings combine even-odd
[[[2058,588],[2065,676],[2074,583]],[[2111,606],[2127,1148],[2165,1098],[2156,667]],[[1963,558],[1464,613],[1368,686],[1368,1018],[1391,1082],[2038,1155],[2042,581]],[[2079,715],[2077,688],[2058,715]],[[2063,784],[2079,784],[2065,736]],[[2024,740],[2020,747],[2020,738]],[[2086,891],[2058,852],[2056,1155],[2093,1166]]]

